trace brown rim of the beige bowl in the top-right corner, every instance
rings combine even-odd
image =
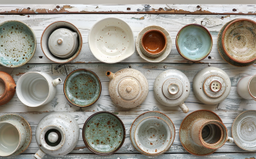
[[[251,22],[251,23],[254,23],[254,25],[256,25],[256,22],[254,22],[254,20],[251,20],[251,19],[246,19],[246,18],[240,18],[240,19],[234,19],[233,21],[231,21],[227,26],[225,26],[225,29],[223,30],[222,32],[222,48],[223,48],[223,51],[225,52],[225,55],[227,55],[230,59],[232,59],[234,62],[238,62],[238,63],[250,63],[250,62],[253,62],[255,58],[251,58],[250,60],[246,60],[246,61],[241,61],[241,60],[238,60],[236,58],[233,58],[232,55],[229,54],[229,52],[226,50],[225,48],[225,43],[224,43],[224,38],[225,38],[225,33],[226,31],[229,29],[229,26],[233,25],[233,23],[236,23],[236,22],[240,22],[240,21],[248,21],[248,22]]]

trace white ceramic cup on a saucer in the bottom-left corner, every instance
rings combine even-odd
[[[0,122],[0,156],[9,156],[25,143],[26,134],[20,122]]]

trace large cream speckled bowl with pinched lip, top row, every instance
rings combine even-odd
[[[88,35],[89,48],[101,62],[117,63],[135,52],[132,29],[122,19],[99,20]]]

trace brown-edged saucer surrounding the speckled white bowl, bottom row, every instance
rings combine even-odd
[[[168,149],[171,147],[173,141],[175,140],[175,125],[173,124],[173,122],[171,122],[171,118],[169,118],[167,115],[164,115],[163,113],[161,113],[159,111],[147,111],[147,112],[143,113],[142,115],[139,115],[137,118],[135,118],[134,122],[132,123],[131,129],[130,129],[130,139],[132,140],[132,145],[141,154],[145,154],[145,153],[142,150],[140,150],[139,147],[137,147],[137,145],[135,143],[135,138],[134,138],[135,129],[136,129],[136,126],[139,124],[139,122],[143,118],[150,117],[150,116],[156,116],[156,117],[163,118],[166,122],[168,122],[168,125],[170,125],[172,135],[171,135],[171,142],[170,142]],[[145,154],[145,155],[150,156],[149,154]]]

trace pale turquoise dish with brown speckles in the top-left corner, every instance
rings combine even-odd
[[[34,31],[27,24],[9,20],[0,24],[0,64],[20,67],[31,60],[37,48]]]

